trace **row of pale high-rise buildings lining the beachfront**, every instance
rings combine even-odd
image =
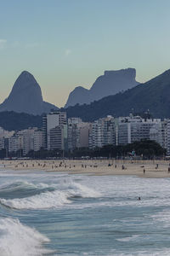
[[[107,116],[92,123],[80,118],[66,118],[65,112],[48,113],[42,118],[42,129],[4,131],[0,128],[0,149],[8,153],[75,148],[101,148],[105,145],[126,145],[141,139],[154,140],[170,154],[170,119],[143,119]]]

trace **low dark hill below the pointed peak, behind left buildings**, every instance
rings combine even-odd
[[[7,131],[42,127],[42,117],[28,113],[0,112],[0,126]]]

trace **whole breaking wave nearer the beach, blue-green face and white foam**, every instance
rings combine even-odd
[[[71,203],[77,197],[99,197],[99,192],[80,183],[60,183],[60,184],[33,184],[33,183],[14,183],[9,185],[14,191],[20,192],[25,197],[0,198],[1,205],[14,209],[48,209],[62,207]],[[8,191],[8,186],[0,188]],[[33,189],[33,191],[32,191]],[[25,193],[24,193],[25,190]],[[21,193],[22,192],[22,193]],[[31,192],[36,195],[31,195]],[[10,190],[11,193],[11,190]],[[14,195],[14,193],[13,193]],[[17,195],[17,194],[16,194]],[[31,196],[30,196],[31,195]]]

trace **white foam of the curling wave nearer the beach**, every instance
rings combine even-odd
[[[55,189],[53,191],[41,191],[41,193],[37,195],[27,196],[25,198],[0,198],[0,203],[5,207],[13,209],[34,210],[62,207],[65,204],[71,203],[72,198],[99,197],[99,192],[94,191],[94,189],[89,189],[80,183],[65,183],[60,186],[56,184],[47,185],[42,183],[37,186],[44,187],[44,185],[47,186],[46,189]]]

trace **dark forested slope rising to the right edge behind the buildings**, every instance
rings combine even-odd
[[[84,121],[93,121],[111,114],[115,117],[129,113],[141,113],[146,110],[156,118],[170,117],[170,69],[150,81],[132,89],[107,96],[89,105],[69,107],[68,117],[80,117]]]

